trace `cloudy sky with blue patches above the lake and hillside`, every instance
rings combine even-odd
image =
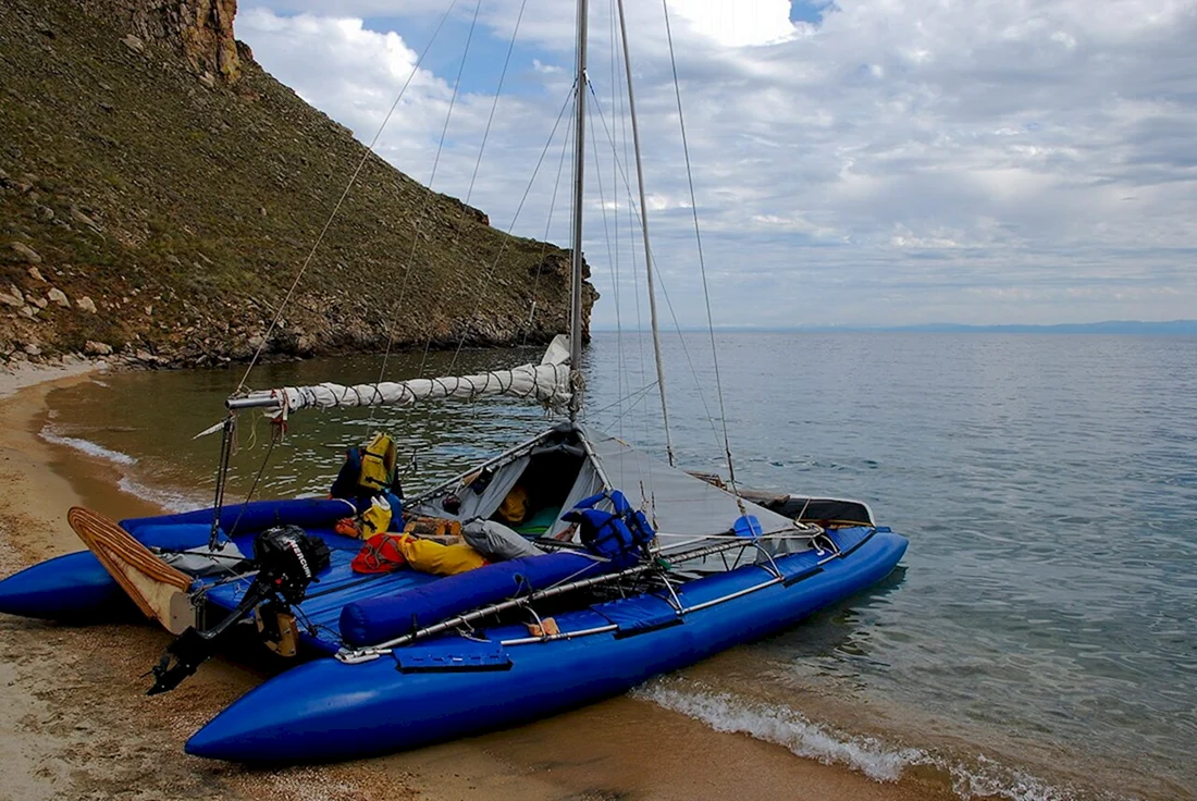
[[[595,326],[634,328],[613,5],[583,251]],[[693,202],[663,6],[626,5],[666,324],[707,296],[717,327],[1197,317],[1197,0],[668,0]],[[575,7],[242,0],[236,30],[400,170],[567,247]]]

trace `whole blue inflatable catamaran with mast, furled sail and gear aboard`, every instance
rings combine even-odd
[[[581,163],[585,0],[578,13]],[[622,43],[626,57],[626,34]],[[627,91],[631,104],[631,81]],[[907,542],[867,505],[743,491],[673,466],[660,347],[668,461],[578,420],[583,177],[575,170],[571,334],[540,364],[235,393],[213,508],[119,524],[73,509],[87,550],[0,581],[0,612],[93,620],[132,599],[177,635],[152,693],[218,650],[244,648],[231,632],[253,632],[296,665],[186,748],[312,761],[412,748],[622,693],[885,578]],[[306,408],[486,395],[569,409],[569,419],[413,498],[396,497],[395,454],[379,438],[342,471],[335,498],[224,503],[227,451],[247,409],[282,420]]]

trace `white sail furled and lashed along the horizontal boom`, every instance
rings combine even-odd
[[[310,387],[282,387],[251,392],[229,399],[229,408],[273,408],[290,414],[302,408],[350,408],[354,406],[409,406],[419,401],[449,398],[473,400],[508,395],[537,401],[552,408],[570,402],[570,346],[567,336],[557,336],[540,364],[523,364],[472,376],[413,378],[370,384],[321,383]]]

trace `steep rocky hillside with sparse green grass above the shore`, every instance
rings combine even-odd
[[[0,5],[0,358],[208,364],[261,342],[366,153],[262,71],[235,14]],[[567,262],[370,154],[267,350],[543,341],[567,329]]]

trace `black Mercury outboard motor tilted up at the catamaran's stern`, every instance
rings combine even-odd
[[[316,575],[332,563],[328,545],[309,536],[298,526],[268,528],[254,539],[254,565],[257,576],[245,590],[237,608],[227,618],[205,631],[194,627],[180,635],[154,666],[154,685],[146,694],[156,696],[174,690],[183,679],[195,673],[200,665],[215,653],[219,638],[249,617],[255,607],[263,618],[274,619],[275,612],[298,605],[308,585],[320,581]]]

